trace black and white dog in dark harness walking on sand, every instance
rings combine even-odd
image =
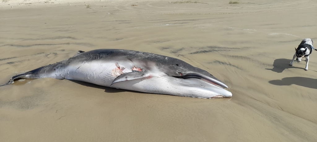
[[[293,65],[295,58],[297,62],[301,62],[301,59],[305,57],[306,58],[305,70],[308,70],[309,55],[312,53],[313,50],[316,50],[313,47],[313,40],[310,38],[303,39],[301,41],[301,44],[298,45],[297,49],[295,47],[295,54],[293,56],[292,62],[289,65],[291,66]]]

